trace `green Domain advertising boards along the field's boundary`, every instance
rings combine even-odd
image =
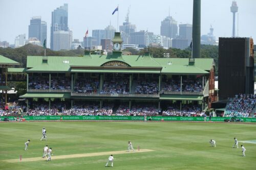
[[[9,120],[17,120],[15,116],[2,116],[0,117],[3,121],[5,117],[8,117]],[[147,120],[150,116],[147,116]],[[209,121],[209,117],[206,119],[204,117],[180,117],[180,116],[151,116],[153,121]],[[18,118],[20,121],[26,120],[144,120],[144,116],[23,116]],[[230,117],[211,117],[212,122],[225,122],[230,119]],[[240,117],[239,122],[253,122],[256,123],[256,118],[251,117]]]

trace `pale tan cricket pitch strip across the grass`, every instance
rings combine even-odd
[[[131,151],[111,151],[111,152],[95,152],[95,153],[86,153],[86,154],[73,154],[73,155],[59,155],[59,156],[52,156],[52,159],[67,159],[67,158],[81,158],[81,157],[91,157],[91,156],[102,156],[102,155],[117,155],[117,154],[133,154],[133,153],[142,153],[142,152],[152,152],[154,150],[147,150],[147,149],[140,149],[139,151],[136,150],[135,152]],[[3,160],[5,162],[9,163],[16,163],[16,162],[31,162],[31,161],[39,161],[39,160],[45,160],[41,157],[35,157],[35,158],[23,158],[20,159],[7,159]]]

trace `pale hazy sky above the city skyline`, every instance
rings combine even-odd
[[[106,26],[117,27],[117,13],[112,15],[119,5],[119,26],[125,19],[127,8],[131,5],[130,22],[137,31],[148,30],[160,34],[161,21],[173,16],[178,24],[192,23],[193,0],[159,0],[159,1],[121,1],[121,0],[0,0],[0,41],[14,43],[15,36],[26,34],[32,16],[41,16],[47,22],[48,47],[50,46],[51,12],[64,3],[69,5],[69,28],[73,39],[82,40],[87,29],[89,36],[92,30],[104,29]],[[230,0],[201,0],[201,35],[209,32],[210,25],[216,37],[230,37],[232,34],[232,13]],[[252,37],[256,42],[256,1],[237,0],[239,13],[239,37]],[[236,21],[237,24],[237,21]],[[254,42],[254,43],[255,43]]]

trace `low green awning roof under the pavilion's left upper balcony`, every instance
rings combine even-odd
[[[19,98],[70,98],[70,93],[26,93]]]

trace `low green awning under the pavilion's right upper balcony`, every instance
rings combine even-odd
[[[172,94],[161,94],[160,100],[177,100],[177,101],[202,101],[203,96],[201,95],[172,95]]]

